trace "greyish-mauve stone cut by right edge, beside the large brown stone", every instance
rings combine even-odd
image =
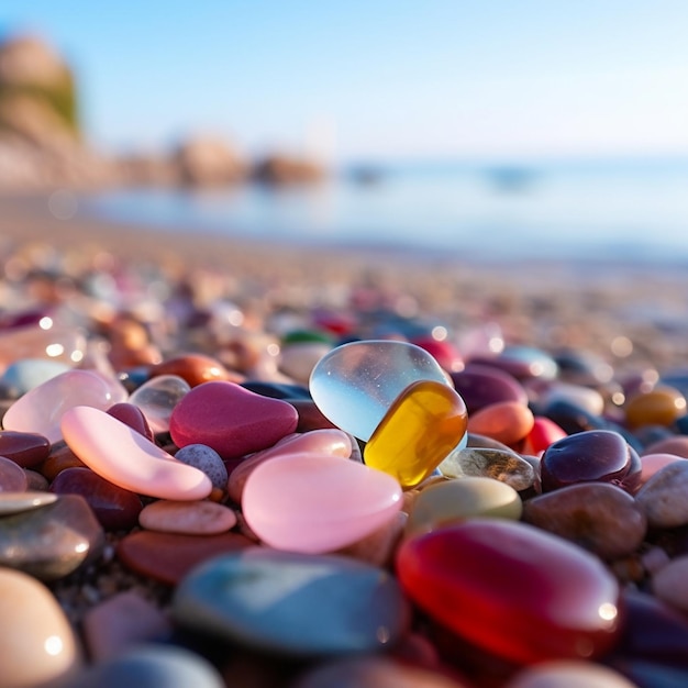
[[[635,495],[650,528],[677,528],[688,523],[688,460],[681,459],[657,471]]]

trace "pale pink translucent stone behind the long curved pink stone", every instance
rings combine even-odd
[[[69,370],[18,399],[2,419],[4,430],[36,432],[51,443],[62,440],[60,420],[74,407],[108,410],[121,401],[106,380],[90,370]]]

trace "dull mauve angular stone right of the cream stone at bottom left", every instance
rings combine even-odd
[[[84,614],[84,640],[93,663],[121,655],[145,642],[160,642],[173,633],[165,612],[134,590],[119,592]]]

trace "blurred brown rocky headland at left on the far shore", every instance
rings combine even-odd
[[[315,160],[278,152],[245,159],[207,133],[191,133],[163,154],[100,153],[82,130],[67,62],[42,37],[0,41],[0,191],[311,184],[326,174]]]

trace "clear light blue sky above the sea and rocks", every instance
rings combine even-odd
[[[102,149],[688,154],[685,0],[3,0],[0,30],[67,55]]]

